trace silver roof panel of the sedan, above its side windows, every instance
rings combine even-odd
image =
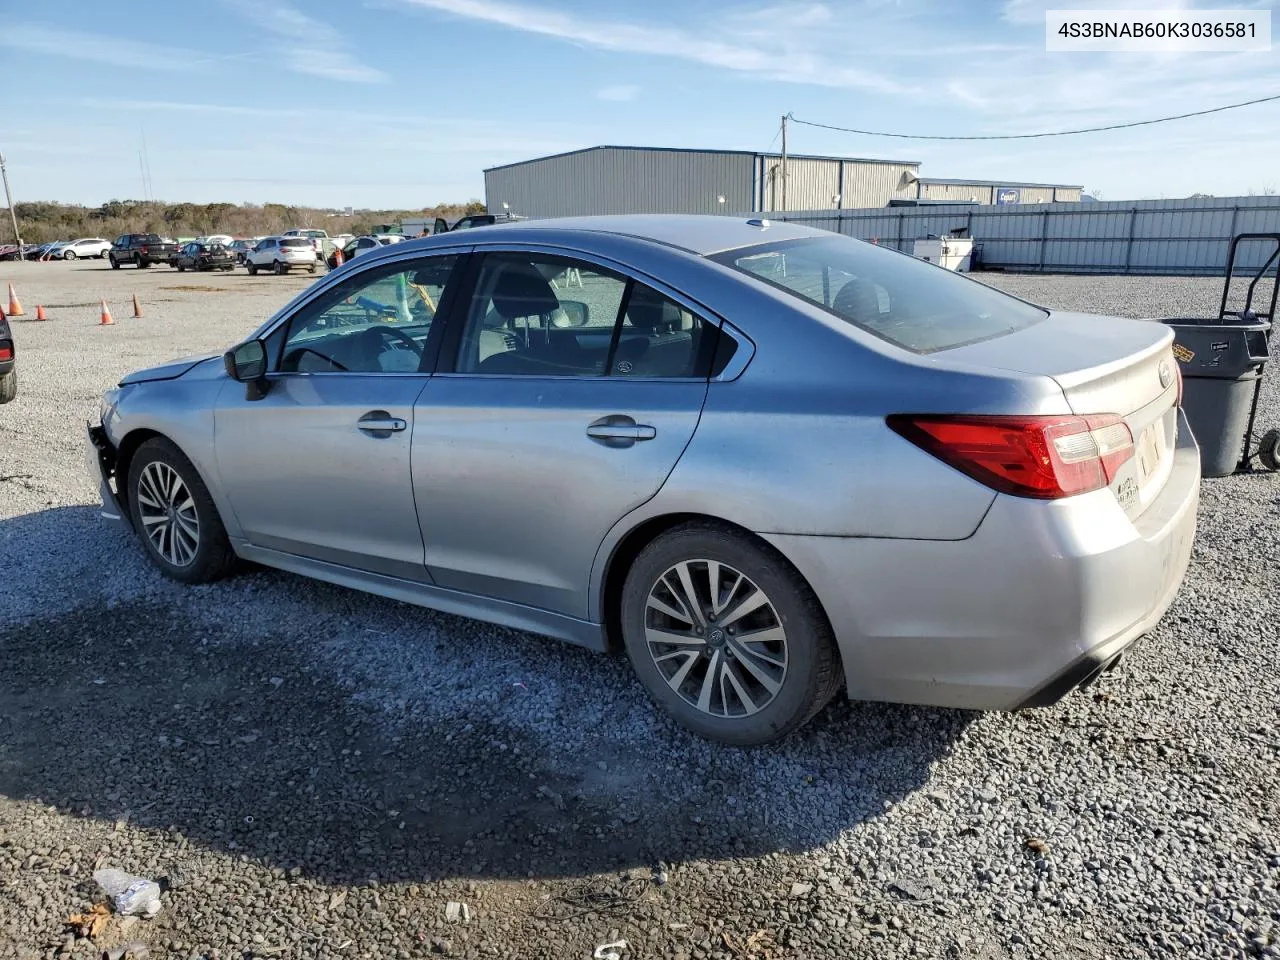
[[[756,243],[832,236],[829,230],[769,220],[767,216],[703,216],[696,214],[627,214],[507,220],[485,228],[484,236],[498,236],[493,230],[502,230],[502,237],[515,239],[520,234],[536,234],[548,229],[561,233],[612,233],[635,237],[671,247],[681,247],[700,256]],[[479,234],[476,234],[476,242],[480,242]]]

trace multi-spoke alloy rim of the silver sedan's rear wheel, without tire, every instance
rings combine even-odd
[[[777,609],[727,563],[669,567],[649,590],[644,631],[667,686],[712,717],[758,713],[786,678],[787,635]]]

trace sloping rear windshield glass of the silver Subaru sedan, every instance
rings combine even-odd
[[[836,234],[712,259],[915,353],[1002,337],[1048,315],[960,274]]]

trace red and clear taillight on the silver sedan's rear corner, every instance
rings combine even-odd
[[[993,490],[1053,500],[1107,486],[1133,457],[1117,416],[906,416],[888,425]]]

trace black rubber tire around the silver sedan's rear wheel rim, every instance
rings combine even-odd
[[[658,589],[659,579],[685,561],[714,561],[742,573],[750,585],[764,591],[772,605],[768,616],[776,616],[777,625],[785,631],[786,667],[781,685],[772,699],[762,701],[763,705],[755,713],[713,716],[699,709],[668,685],[649,652],[645,626],[650,589]],[[732,605],[733,603],[726,602],[726,609]],[[735,746],[756,746],[781,740],[826,707],[844,681],[831,625],[809,585],[771,547],[724,526],[686,524],[645,547],[627,571],[621,612],[623,644],[645,690],[676,722],[708,740]],[[739,622],[746,623],[748,618]],[[719,631],[708,625],[708,641],[716,632]],[[722,649],[732,648],[732,639],[723,643]],[[704,645],[701,657],[707,658],[712,649],[709,643]],[[742,654],[739,653],[737,659],[741,658]],[[675,666],[682,663],[680,660]],[[687,675],[694,678],[694,686],[698,686],[699,666],[703,666],[701,660]],[[705,673],[703,669],[701,675]],[[737,676],[746,678],[749,675],[739,668]],[[750,684],[749,680],[746,682]]]

